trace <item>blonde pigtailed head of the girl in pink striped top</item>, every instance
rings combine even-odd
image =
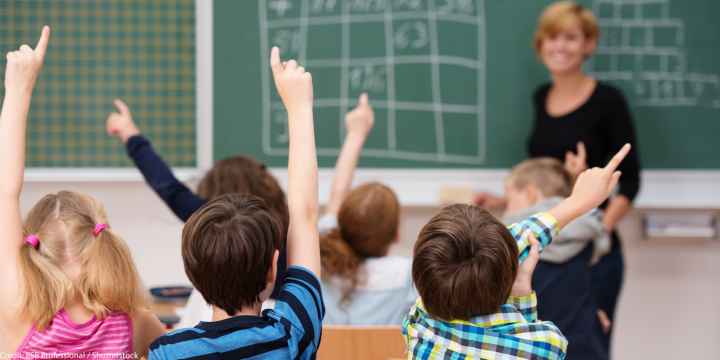
[[[74,299],[99,318],[145,305],[130,251],[107,223],[100,203],[69,191],[46,195],[30,210],[25,236],[39,241],[21,251],[22,302],[38,328]]]

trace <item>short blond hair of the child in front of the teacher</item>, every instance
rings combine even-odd
[[[508,184],[516,189],[533,185],[545,197],[568,197],[572,191],[572,175],[557,159],[541,157],[529,159],[516,165],[507,178]]]

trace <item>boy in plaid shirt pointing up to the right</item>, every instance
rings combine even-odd
[[[434,216],[414,249],[420,299],[403,323],[410,356],[565,358],[565,337],[537,319],[532,273],[541,247],[607,199],[629,151],[625,145],[606,167],[583,172],[570,197],[550,211],[510,228],[471,205],[449,206]]]

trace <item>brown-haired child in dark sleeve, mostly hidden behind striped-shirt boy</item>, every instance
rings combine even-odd
[[[288,210],[285,192],[267,167],[247,156],[235,156],[215,163],[198,185],[196,195],[173,175],[170,167],[155,152],[150,141],[144,137],[128,106],[122,100],[115,100],[117,112],[111,113],[106,121],[108,134],[122,141],[127,153],[140,170],[145,181],[160,196],[170,210],[183,222],[202,207],[208,200],[224,194],[251,194],[265,200],[270,210],[280,220],[283,236],[287,233]],[[287,267],[285,239],[281,239],[277,283]],[[279,294],[275,291],[271,297]],[[200,321],[210,320],[212,309],[200,293],[193,291],[187,305],[180,311],[179,327],[190,327]]]

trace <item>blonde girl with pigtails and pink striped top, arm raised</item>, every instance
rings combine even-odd
[[[22,45],[7,55],[0,115],[0,353],[144,356],[165,331],[147,309],[130,251],[109,227],[102,205],[61,191],[42,198],[24,226],[20,219],[27,116],[49,38],[46,26],[34,50]]]

